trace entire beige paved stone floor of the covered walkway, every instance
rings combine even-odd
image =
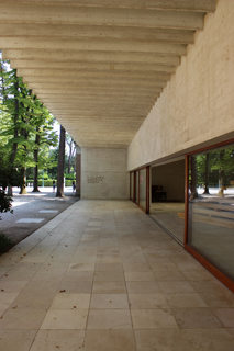
[[[234,295],[130,201],[75,203],[0,276],[0,350],[234,350]]]

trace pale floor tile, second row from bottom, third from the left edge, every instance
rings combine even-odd
[[[132,329],[130,309],[90,309],[87,329]]]

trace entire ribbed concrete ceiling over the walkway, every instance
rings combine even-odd
[[[81,147],[125,148],[215,0],[1,0],[0,49]]]

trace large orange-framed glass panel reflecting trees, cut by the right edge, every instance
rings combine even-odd
[[[188,245],[234,279],[234,145],[189,158]]]

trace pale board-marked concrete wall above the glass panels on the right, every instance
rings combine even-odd
[[[233,137],[233,21],[234,1],[218,1],[130,145],[127,170]]]

